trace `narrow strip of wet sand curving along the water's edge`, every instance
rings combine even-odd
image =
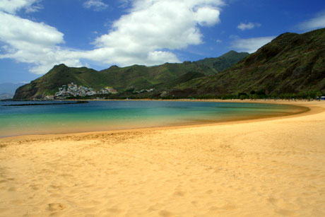
[[[80,100],[68,100],[68,101],[80,101]],[[82,101],[82,100],[81,100]],[[92,101],[92,100],[90,100]],[[93,101],[124,101],[124,100],[93,100]],[[257,117],[249,117],[249,118],[240,118],[240,119],[229,119],[223,120],[219,122],[209,122],[209,123],[193,123],[193,124],[184,124],[184,125],[172,125],[172,126],[160,126],[160,127],[134,127],[129,129],[112,129],[112,130],[103,130],[103,131],[76,131],[76,132],[68,132],[68,133],[53,133],[53,134],[23,134],[23,135],[14,135],[14,136],[0,136],[1,140],[16,140],[16,139],[25,139],[26,137],[52,137],[52,136],[69,136],[73,134],[100,134],[100,133],[120,133],[127,131],[150,131],[150,130],[159,130],[159,129],[182,129],[189,127],[207,127],[214,125],[222,125],[222,124],[236,124],[236,123],[244,123],[244,122],[256,122],[256,121],[264,121],[271,119],[278,119],[282,117],[295,117],[296,115],[308,115],[314,114],[314,110],[311,112],[311,108],[307,107],[305,103],[302,101],[290,102],[290,100],[131,100],[131,101],[177,101],[177,102],[233,102],[233,103],[259,103],[259,104],[273,104],[273,105],[293,105],[295,107],[300,107],[299,112],[290,112],[285,115],[265,115],[265,116],[257,116]],[[321,111],[319,111],[321,112]],[[308,114],[306,114],[308,113]]]

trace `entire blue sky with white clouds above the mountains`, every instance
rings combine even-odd
[[[324,27],[319,0],[0,0],[0,83],[62,63],[102,70],[252,53]]]

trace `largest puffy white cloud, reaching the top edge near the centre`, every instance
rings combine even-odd
[[[105,52],[107,55],[100,56],[107,64],[115,62],[122,66],[178,62],[175,55],[162,49],[184,49],[201,44],[199,25],[218,23],[218,7],[222,5],[223,1],[218,0],[134,1],[130,13],[116,20],[108,34],[95,40],[98,47],[95,52]],[[161,61],[150,59],[151,52],[160,54]],[[115,54],[114,57],[108,55],[110,53]]]

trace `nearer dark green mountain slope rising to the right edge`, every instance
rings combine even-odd
[[[325,28],[284,33],[234,66],[181,83],[175,97],[320,95],[325,93]]]

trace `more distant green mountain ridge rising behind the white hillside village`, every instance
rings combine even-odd
[[[110,86],[119,92],[149,88],[165,91],[193,78],[218,73],[247,55],[248,53],[231,51],[221,57],[193,62],[184,61],[182,64],[166,63],[149,67],[134,65],[123,68],[111,66],[102,71],[60,64],[54,66],[44,76],[18,88],[14,99],[44,98],[46,95],[54,95],[58,88],[71,82],[95,90]]]

